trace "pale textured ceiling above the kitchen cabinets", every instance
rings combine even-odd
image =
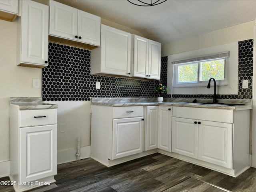
[[[148,7],[127,0],[58,1],[132,28],[162,44],[256,19],[256,0],[167,0]]]

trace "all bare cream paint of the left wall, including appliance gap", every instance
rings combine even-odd
[[[40,1],[40,0],[36,0]],[[104,24],[135,33],[133,29],[102,20]],[[0,167],[10,160],[10,97],[41,97],[41,88],[32,88],[32,79],[42,79],[42,69],[16,66],[17,23],[0,20]],[[81,156],[90,154],[90,101],[51,102],[58,104],[58,163],[76,160],[77,138]],[[65,130],[60,133],[60,129]],[[4,163],[2,163],[5,166]],[[4,174],[4,173],[2,173]],[[1,175],[1,170],[0,170]],[[5,175],[5,174],[4,174]]]

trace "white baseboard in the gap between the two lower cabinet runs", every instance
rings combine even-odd
[[[84,146],[80,148],[80,157],[79,159],[89,158],[90,157],[91,146]],[[72,148],[68,150],[58,151],[58,164],[63,164],[71,161],[76,161],[77,148]]]

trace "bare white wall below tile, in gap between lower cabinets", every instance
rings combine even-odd
[[[90,156],[91,102],[46,101],[58,105],[58,164],[76,160],[78,137],[80,159]]]

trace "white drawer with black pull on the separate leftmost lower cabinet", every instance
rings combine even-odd
[[[20,127],[57,124],[57,109],[20,111]]]

